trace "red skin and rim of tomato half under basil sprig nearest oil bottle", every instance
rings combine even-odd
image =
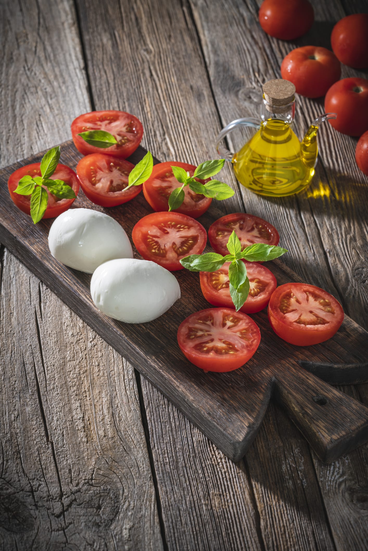
[[[143,195],[146,198],[147,203],[150,205],[150,207],[153,210],[156,210],[156,212],[164,212],[169,210],[169,203],[168,200],[162,196],[158,196],[157,192],[153,189],[151,182],[156,179],[156,177],[165,170],[171,170],[172,166],[180,166],[184,170],[195,170],[195,165],[190,165],[188,163],[179,163],[179,161],[168,161],[166,163],[159,163],[157,165],[154,165],[152,174],[148,180],[146,180],[145,183],[143,183]],[[207,183],[211,179],[208,178],[207,180],[199,180],[201,183]],[[187,194],[189,192],[188,186],[185,186],[184,193]],[[187,216],[190,216],[191,218],[199,218],[202,214],[206,212],[206,210],[209,209],[210,204],[212,202],[212,199],[210,197],[205,197],[200,202],[198,202],[195,206],[195,208],[188,207],[186,204],[186,198],[184,199],[183,204],[173,210],[173,212],[179,212],[181,214],[186,214]],[[199,204],[200,203],[200,204]]]

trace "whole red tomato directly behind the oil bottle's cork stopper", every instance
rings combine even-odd
[[[341,74],[334,53],[318,46],[295,48],[281,63],[281,77],[295,85],[297,94],[307,98],[324,96]]]

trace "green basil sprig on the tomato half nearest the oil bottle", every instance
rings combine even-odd
[[[215,176],[217,172],[220,172],[224,164],[225,159],[205,161],[197,166],[193,176],[189,176],[189,172],[186,172],[186,170],[180,166],[172,166],[173,174],[182,186],[175,188],[175,190],[170,193],[169,210],[175,210],[183,203],[185,198],[185,186],[189,186],[195,193],[201,193],[205,197],[211,197],[217,199],[217,201],[232,197],[234,195],[234,190],[232,190],[227,183],[220,182],[220,180],[210,180],[203,184],[195,180],[196,178],[207,180],[207,178]]]

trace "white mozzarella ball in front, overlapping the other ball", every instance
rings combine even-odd
[[[119,258],[95,270],[90,294],[103,314],[144,323],[164,314],[180,298],[180,287],[177,278],[156,262]]]

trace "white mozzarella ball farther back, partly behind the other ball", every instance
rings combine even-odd
[[[66,210],[54,220],[49,249],[62,264],[89,274],[113,258],[133,258],[124,228],[114,218],[89,208]]]

